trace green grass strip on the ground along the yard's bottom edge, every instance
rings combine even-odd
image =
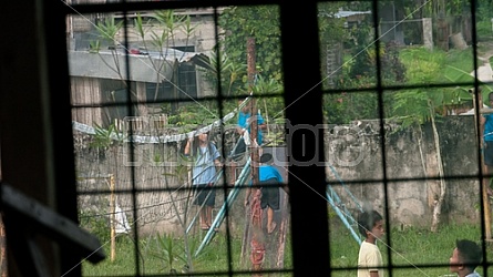
[[[338,218],[330,220],[329,247],[330,264],[333,268],[332,276],[356,276],[356,266],[358,259],[359,245],[350,235],[349,230],[341,224]],[[449,258],[455,247],[455,239],[468,238],[481,243],[481,228],[477,225],[448,225],[443,226],[440,232],[431,233],[428,229],[405,227],[392,228],[381,242],[378,243],[384,263],[389,263],[389,255],[394,267],[392,276],[442,276],[449,273]],[[130,237],[120,237],[116,243],[116,255],[112,261],[110,257],[100,264],[92,265],[83,261],[83,276],[134,276],[136,259],[141,268],[141,275],[167,275],[172,268],[182,273],[186,268],[183,250],[184,240],[173,238],[174,254],[170,264],[170,253],[166,247],[158,242],[160,236],[147,237],[138,243],[140,255],[135,255],[135,245]],[[309,230],[307,229],[307,239]],[[201,236],[192,236],[191,244],[198,245],[202,240]],[[286,243],[284,269],[291,268],[291,254],[289,238]],[[240,237],[230,239],[230,263],[228,261],[228,242],[224,232],[218,233],[214,239],[207,245],[197,257],[193,258],[192,273],[201,274],[201,276],[219,276],[214,273],[227,273],[228,266],[232,270],[249,270],[248,261],[249,253],[246,257],[246,264],[240,264]],[[106,254],[110,253],[110,245],[104,245]],[[195,246],[192,246],[194,248]],[[195,247],[196,249],[196,247]],[[322,249],[315,249],[320,252]],[[270,252],[270,253],[269,253]],[[275,255],[275,249],[267,249],[268,255]],[[194,252],[193,252],[194,253]],[[487,257],[491,257],[493,249],[491,245],[486,245]],[[268,269],[268,267],[265,267]],[[274,267],[271,267],[274,268]],[[477,271],[483,274],[480,266]],[[489,275],[493,274],[493,269],[489,270]],[[270,274],[269,276],[291,276],[289,273]],[[387,275],[388,276],[388,275]]]

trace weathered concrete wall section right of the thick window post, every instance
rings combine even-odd
[[[351,202],[351,194],[360,204],[370,204],[379,211],[388,203],[393,224],[430,226],[435,199],[440,196],[438,152],[431,124],[421,130],[400,131],[398,125],[387,123],[384,129],[387,134],[382,136],[378,121],[361,122],[360,126],[350,127],[350,132],[336,126],[336,132],[328,136],[329,157],[333,161],[333,171],[330,166],[327,168],[328,178],[339,184],[336,189],[353,209],[358,204]],[[438,133],[446,184],[442,220],[479,223],[480,183],[475,176],[479,161],[473,116],[443,117],[438,121]]]

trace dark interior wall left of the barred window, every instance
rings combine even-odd
[[[66,55],[60,54],[66,52],[64,7],[62,1],[35,0],[2,6],[6,16],[0,22],[10,28],[4,33],[9,39],[0,43],[1,171],[2,182],[76,222],[68,63]],[[78,265],[80,257],[73,249],[29,234],[35,230],[19,224],[22,217],[11,220],[13,215],[2,211],[9,276],[39,276],[40,268],[60,276]],[[32,246],[42,257],[34,259],[25,245],[19,245],[28,237],[34,237]],[[73,268],[74,276],[78,269]]]

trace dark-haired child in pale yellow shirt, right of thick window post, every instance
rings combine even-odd
[[[383,217],[377,211],[367,211],[358,217],[359,233],[364,237],[358,256],[358,277],[383,277],[383,260],[377,239],[380,239],[386,229]]]

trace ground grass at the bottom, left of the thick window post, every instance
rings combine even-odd
[[[142,238],[138,243],[138,264],[142,275],[170,273],[204,273],[227,271],[232,264],[234,270],[248,270],[239,266],[239,238],[230,238],[232,263],[228,263],[228,242],[224,232],[215,235],[214,239],[197,256],[194,255],[203,239],[203,234],[189,235],[188,244],[192,248],[192,268],[188,266],[184,239],[168,234],[156,234]],[[110,243],[103,242],[104,252],[109,256]],[[116,243],[116,255],[113,261],[107,257],[97,265],[83,261],[83,276],[135,275],[135,243],[129,236],[121,236]],[[290,247],[287,246],[287,249]],[[288,253],[288,252],[287,252]],[[248,256],[246,257],[248,261]]]

